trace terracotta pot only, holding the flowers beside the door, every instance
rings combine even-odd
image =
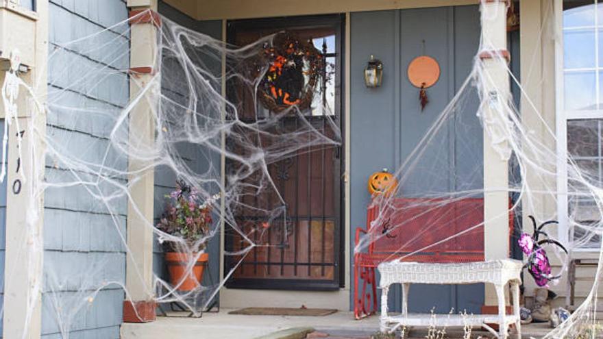
[[[178,286],[179,291],[191,291],[198,288],[203,279],[203,272],[209,260],[209,253],[199,255],[197,262],[190,267],[190,261],[195,259],[195,255],[180,252],[166,252],[165,261],[170,274],[171,284]],[[188,267],[187,267],[188,266]],[[186,271],[186,268],[189,271]]]

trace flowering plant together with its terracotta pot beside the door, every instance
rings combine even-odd
[[[195,290],[203,278],[209,260],[206,238],[212,224],[211,197],[201,203],[199,192],[182,181],[166,195],[167,203],[157,228],[174,238],[162,241],[171,284],[177,290]]]

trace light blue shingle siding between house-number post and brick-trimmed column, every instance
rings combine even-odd
[[[47,136],[62,155],[121,170],[127,168],[127,159],[110,147],[108,134],[130,96],[127,75],[121,71],[128,68],[129,36],[121,34],[126,25],[105,29],[126,18],[123,0],[49,1]],[[107,45],[56,48],[91,34],[98,34],[95,43]],[[70,183],[97,176],[95,171],[67,171],[60,159],[49,155],[46,179]],[[125,177],[116,180],[127,183]],[[62,338],[66,332],[69,338],[119,338],[127,201],[103,203],[89,191],[95,189],[105,195],[116,192],[110,184],[45,192],[43,338]]]

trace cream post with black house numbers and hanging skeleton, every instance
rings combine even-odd
[[[40,186],[46,114],[44,103],[37,105],[34,98],[45,98],[47,92],[47,8],[47,0],[38,0],[37,13],[16,3],[0,4],[0,31],[10,32],[0,36],[0,86],[16,75],[30,88],[18,85],[18,94],[14,101],[9,97],[7,106],[0,99],[0,118],[11,123],[5,130],[6,233],[0,245],[5,246],[3,338],[34,339],[42,332],[44,194]]]

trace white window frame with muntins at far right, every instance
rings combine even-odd
[[[599,30],[598,23],[598,4],[597,0],[593,0],[595,4],[595,27],[572,27],[571,29],[594,28],[595,30],[595,60],[599,60]],[[567,185],[567,121],[578,119],[596,119],[603,118],[603,110],[565,110],[565,70],[564,70],[564,49],[563,49],[563,0],[554,0],[553,3],[554,23],[555,26],[555,106],[556,106],[556,152],[557,152],[557,216],[559,221],[558,239],[568,244],[573,241],[569,238],[569,206],[568,206],[568,185]],[[603,28],[602,28],[603,30]],[[580,68],[573,71],[593,71],[593,68]],[[599,103],[603,98],[599,96],[599,71],[596,66],[595,71],[595,101]],[[603,240],[602,240],[603,241]],[[573,248],[574,252],[599,252],[600,247],[592,248]]]

